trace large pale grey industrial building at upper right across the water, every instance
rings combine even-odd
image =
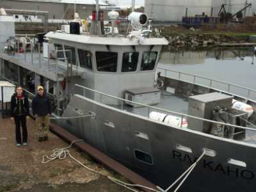
[[[180,22],[184,16],[202,13],[218,16],[222,4],[226,4],[227,12],[234,14],[249,3],[252,7],[243,11],[243,16],[249,16],[255,13],[256,0],[145,0],[145,12],[153,20]]]

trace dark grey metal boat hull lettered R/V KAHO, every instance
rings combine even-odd
[[[57,123],[161,188],[167,188],[184,173],[204,148],[216,152],[216,156],[204,156],[180,191],[234,192],[256,188],[253,145],[176,129],[74,95],[64,116],[77,116],[82,112],[95,113],[96,118],[58,120]],[[138,151],[149,156],[143,159],[136,155]],[[230,159],[239,163],[228,163]]]

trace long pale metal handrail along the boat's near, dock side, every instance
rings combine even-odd
[[[239,128],[239,129],[244,129],[244,130],[250,130],[250,131],[255,131],[256,132],[256,129],[253,129],[253,128],[249,128],[249,127],[242,127],[242,126],[238,126],[238,125],[232,125],[232,124],[225,124],[225,123],[222,123],[222,122],[216,122],[216,121],[213,121],[213,120],[208,120],[208,119],[205,119],[205,118],[200,118],[200,117],[197,117],[197,116],[192,116],[192,115],[188,115],[188,114],[184,114],[184,113],[178,113],[178,112],[175,112],[175,111],[170,111],[170,110],[167,110],[167,109],[161,109],[161,108],[156,108],[154,106],[148,106],[146,104],[141,104],[141,103],[138,103],[138,102],[133,102],[131,100],[126,100],[126,99],[122,99],[122,98],[119,98],[119,97],[115,97],[113,95],[108,95],[106,93],[102,93],[102,92],[99,92],[99,91],[96,91],[96,90],[93,90],[91,88],[87,88],[85,86],[81,86],[80,84],[75,84],[74,86],[77,86],[79,88],[83,88],[84,90],[89,90],[91,92],[94,92],[94,93],[99,93],[100,94],[100,97],[102,97],[102,95],[106,96],[106,97],[111,97],[113,99],[117,99],[117,100],[122,100],[122,102],[129,102],[129,103],[132,103],[132,104],[135,104],[135,105],[138,105],[138,106],[141,106],[141,107],[146,107],[148,109],[155,109],[157,111],[163,111],[165,113],[171,113],[171,114],[174,114],[174,115],[179,115],[182,119],[181,119],[181,123],[180,123],[180,127],[182,128],[182,122],[183,122],[183,119],[184,117],[189,117],[189,118],[194,118],[196,120],[202,120],[204,122],[209,122],[209,123],[213,123],[213,124],[220,124],[220,125],[226,125],[226,126],[230,126],[230,127],[236,127],[236,128]],[[86,97],[86,96],[84,96]],[[102,103],[102,102],[101,102]],[[148,114],[149,115],[149,114]],[[148,116],[149,118],[149,116]]]

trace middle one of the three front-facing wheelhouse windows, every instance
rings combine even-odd
[[[122,72],[134,72],[137,69],[139,60],[138,52],[124,52],[122,62]]]

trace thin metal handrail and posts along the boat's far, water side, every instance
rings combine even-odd
[[[239,84],[228,83],[228,82],[225,82],[225,81],[220,81],[220,80],[218,80],[218,79],[211,79],[211,78],[209,78],[209,77],[202,77],[202,76],[198,76],[198,75],[195,75],[195,74],[188,74],[188,73],[186,73],[186,72],[179,72],[179,71],[177,71],[177,70],[170,70],[170,69],[167,69],[167,68],[157,67],[157,69],[159,69],[159,70],[164,70],[164,73],[165,73],[165,74],[164,74],[164,77],[167,77],[167,72],[175,72],[176,74],[179,74],[178,80],[181,79],[181,75],[182,75],[182,74],[184,74],[184,75],[186,75],[186,76],[193,77],[193,82],[190,82],[190,83],[194,83],[194,84],[195,84],[196,78],[199,78],[199,79],[206,79],[206,80],[208,80],[209,83],[210,83],[209,88],[214,88],[214,87],[212,87],[212,83],[214,83],[214,82],[215,82],[215,83],[221,83],[221,84],[227,85],[227,90],[225,90],[225,91],[227,91],[227,92],[230,92],[230,87],[231,87],[231,86],[236,87],[236,88],[242,88],[243,90],[246,90],[246,92],[247,92],[247,97],[246,97],[247,100],[250,99],[250,92],[256,93],[256,90],[254,90],[254,89],[252,89],[252,88],[248,88],[248,87],[246,87],[246,86],[241,86],[241,85],[239,85]],[[205,85],[204,85],[204,86],[205,86]],[[207,85],[206,85],[206,86],[207,86]],[[224,91],[224,90],[223,90],[223,91]]]

